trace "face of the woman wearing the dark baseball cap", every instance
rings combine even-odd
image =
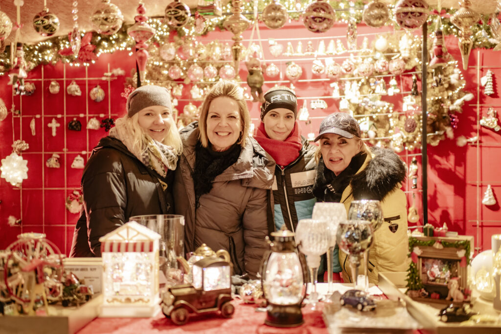
[[[351,159],[362,149],[362,141],[326,133],[320,137],[320,152],[325,166],[336,176],[348,167]]]

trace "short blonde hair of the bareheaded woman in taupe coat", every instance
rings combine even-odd
[[[229,80],[221,80],[217,82],[214,86],[212,86],[203,100],[200,107],[200,117],[198,121],[198,129],[200,130],[198,139],[203,147],[207,147],[209,145],[209,138],[207,137],[207,115],[209,113],[210,103],[215,98],[221,96],[233,99],[238,104],[238,113],[240,114],[240,124],[242,129],[236,143],[244,148],[247,142],[250,127],[250,116],[247,109],[247,103],[243,98],[243,89]]]

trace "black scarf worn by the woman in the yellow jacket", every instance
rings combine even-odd
[[[364,164],[367,153],[360,152],[350,161],[338,176],[325,167],[324,160],[320,158],[317,166],[317,179],[313,185],[313,194],[323,202],[340,202],[343,191],[350,184],[353,175]]]

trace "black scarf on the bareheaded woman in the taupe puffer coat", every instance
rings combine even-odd
[[[238,160],[241,147],[233,144],[229,149],[223,152],[217,152],[210,147],[203,147],[200,142],[195,146],[195,170],[191,175],[195,186],[195,199],[212,189],[212,181],[217,175],[221,174],[226,168]]]

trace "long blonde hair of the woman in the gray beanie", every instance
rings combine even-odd
[[[162,141],[162,144],[169,145],[172,147],[173,152],[176,155],[180,155],[183,150],[183,145],[181,142],[181,137],[177,131],[172,114],[169,116],[172,119],[172,125],[169,128],[169,132]],[[144,148],[142,145],[142,138],[148,135],[146,131],[139,125],[139,113],[134,114],[132,117],[125,115],[115,121],[115,127],[118,129],[125,130],[126,134],[130,136],[130,142],[132,143],[132,149],[135,152],[141,152]]]

